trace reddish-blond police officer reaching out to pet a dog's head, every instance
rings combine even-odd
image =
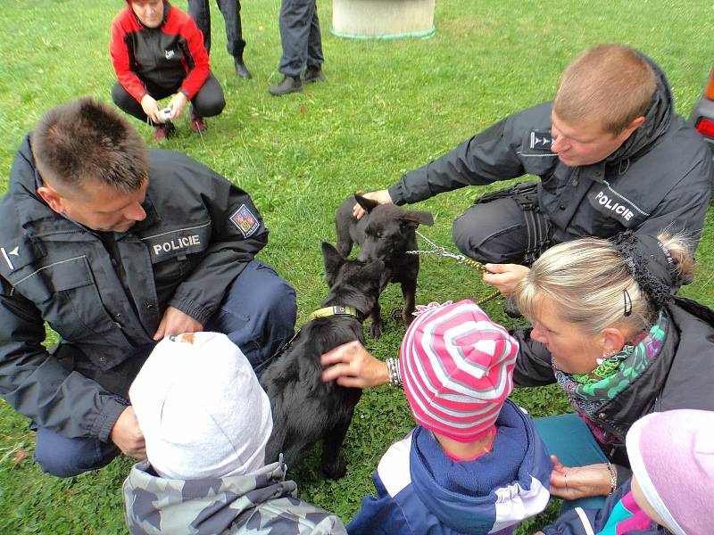
[[[615,44],[577,56],[552,103],[514,113],[366,196],[412,203],[525,174],[540,183],[486,194],[453,224],[454,243],[489,263],[484,281],[504,293],[524,273],[519,265],[577,237],[668,228],[696,243],[712,187],[710,152],[675,114],[664,73]]]

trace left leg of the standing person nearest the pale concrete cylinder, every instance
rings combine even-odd
[[[278,70],[285,76],[277,86],[270,86],[271,95],[286,95],[303,91],[300,79],[307,65],[312,13],[315,0],[283,0],[280,6],[280,42],[283,53]]]

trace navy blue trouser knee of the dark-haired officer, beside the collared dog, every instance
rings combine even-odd
[[[262,363],[293,337],[296,317],[293,287],[268,264],[253,260],[228,286],[205,328],[227,334],[261,371]]]

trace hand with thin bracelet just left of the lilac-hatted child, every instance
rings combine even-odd
[[[557,498],[577,499],[610,494],[608,465],[564,466],[551,456],[551,494]]]

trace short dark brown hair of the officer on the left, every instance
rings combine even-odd
[[[148,152],[137,130],[93,98],[47,111],[30,140],[40,175],[65,192],[81,193],[88,183],[136,192],[148,177]]]

